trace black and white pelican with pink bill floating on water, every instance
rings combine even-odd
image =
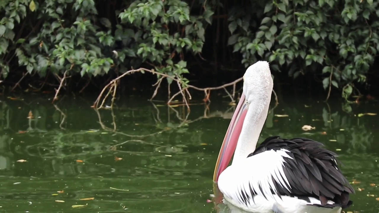
[[[273,91],[269,63],[252,64],[243,80],[213,175],[224,200],[259,213],[341,213],[349,207],[354,189],[340,171],[337,154],[322,143],[272,136],[255,148]]]

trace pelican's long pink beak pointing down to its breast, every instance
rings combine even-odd
[[[240,137],[243,121],[245,120],[248,105],[245,101],[245,95],[242,94],[240,101],[234,111],[232,120],[230,121],[228,130],[226,131],[224,141],[222,142],[220,152],[218,154],[215,172],[213,173],[213,181],[217,182],[221,172],[224,171],[232,159],[232,155],[236,149],[238,138]]]

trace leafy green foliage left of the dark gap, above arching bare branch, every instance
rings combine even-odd
[[[119,1],[120,2],[120,1]],[[4,0],[0,11],[0,66],[7,77],[14,56],[17,66],[44,76],[96,76],[116,68],[150,64],[158,72],[182,78],[188,73],[183,53],[200,53],[213,14],[208,5],[200,15],[190,14],[180,0]],[[14,68],[13,68],[14,69]],[[169,78],[168,78],[169,79]],[[182,78],[183,84],[187,80]],[[169,81],[169,83],[171,83]],[[185,86],[185,85],[184,85]]]

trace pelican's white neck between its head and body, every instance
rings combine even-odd
[[[232,164],[238,164],[240,160],[246,159],[247,155],[254,152],[259,135],[262,132],[263,125],[267,118],[270,101],[271,93],[269,97],[265,97],[263,100],[254,99],[254,101],[249,104]]]

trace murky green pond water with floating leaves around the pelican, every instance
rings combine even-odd
[[[208,108],[193,105],[188,114],[181,106],[137,99],[113,111],[97,112],[91,104],[0,102],[0,212],[230,212],[207,199],[233,106],[213,101]],[[360,182],[346,211],[378,212],[372,183],[379,185],[379,115],[358,116],[379,113],[377,105],[288,100],[271,110],[261,136],[324,142],[340,154],[349,181]]]

